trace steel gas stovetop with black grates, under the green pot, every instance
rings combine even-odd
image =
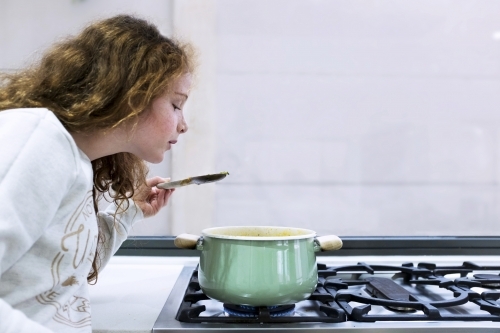
[[[211,300],[200,290],[197,267],[186,266],[153,332],[499,332],[498,264],[318,263],[311,297],[278,308]]]

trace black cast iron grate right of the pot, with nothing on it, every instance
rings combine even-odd
[[[344,309],[350,320],[361,322],[375,321],[500,321],[500,305],[497,300],[500,297],[498,291],[475,292],[473,287],[485,287],[498,285],[499,275],[477,274],[468,278],[467,274],[475,271],[500,271],[500,266],[480,266],[471,262],[464,262],[461,266],[436,266],[433,263],[420,263],[416,267],[412,263],[401,266],[368,265],[359,263],[357,265],[327,267],[318,264],[318,276],[324,288],[333,296],[336,302]],[[403,297],[383,299],[379,297],[367,297],[357,291],[349,290],[350,286],[366,285],[372,283],[373,279],[345,280],[336,278],[338,272],[360,272],[374,274],[376,272],[398,272],[396,276],[403,278],[408,284],[438,286],[444,288],[453,295],[450,299],[428,301],[419,299],[418,296],[407,292]],[[460,278],[446,278],[448,274],[460,275]],[[360,274],[361,275],[361,274]],[[366,289],[373,289],[366,288]],[[397,294],[396,295],[401,295]],[[406,296],[406,299],[404,299]],[[361,305],[351,306],[351,302]],[[475,304],[477,311],[474,313],[460,313],[453,307]],[[392,309],[406,309],[407,312],[393,314],[372,314],[373,306],[383,306]],[[409,313],[411,312],[411,313]],[[457,312],[457,313],[453,313]],[[480,313],[476,313],[480,312]]]

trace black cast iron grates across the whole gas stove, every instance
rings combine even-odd
[[[307,301],[316,304],[313,316],[285,315],[272,316],[267,307],[256,309],[253,317],[224,316],[223,312],[204,315],[207,310],[200,301],[209,300],[201,291],[198,282],[198,270],[195,269],[190,278],[183,301],[176,319],[189,323],[305,323],[325,322],[339,323],[344,321],[500,321],[500,275],[469,273],[476,271],[497,271],[500,266],[480,266],[464,262],[460,266],[437,266],[433,263],[405,263],[401,266],[369,265],[358,263],[347,266],[327,266],[318,264],[318,285],[316,291]],[[337,273],[350,272],[351,279],[343,279]],[[390,279],[375,277],[360,278],[361,275],[394,272],[408,285],[437,286],[450,292],[449,299],[425,300],[411,291],[395,286]],[[357,273],[357,274],[356,274]],[[460,278],[447,278],[446,275],[459,275]],[[377,297],[366,296],[359,292],[364,287]],[[489,288],[478,293],[472,288]],[[379,288],[380,290],[378,290]],[[386,290],[384,290],[386,289]],[[391,296],[384,299],[384,293]],[[473,313],[454,311],[454,307],[471,304],[477,308]],[[291,305],[293,306],[293,305]],[[404,309],[404,311],[373,311],[377,307]],[[451,309],[451,310],[450,310]]]

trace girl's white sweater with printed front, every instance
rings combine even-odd
[[[87,275],[98,224],[102,265],[142,211],[95,217],[92,165],[44,108],[0,111],[0,332],[91,332]],[[101,267],[102,268],[102,267]]]

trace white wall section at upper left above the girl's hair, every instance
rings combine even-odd
[[[0,68],[22,67],[56,39],[119,13],[140,15],[170,35],[171,6],[171,0],[0,0]]]

